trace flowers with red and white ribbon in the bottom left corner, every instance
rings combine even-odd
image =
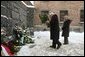
[[[13,48],[13,43],[6,35],[6,31],[4,30],[4,28],[1,28],[1,48],[1,52],[3,52],[4,55],[8,54],[12,56],[14,54],[15,49]],[[5,54],[5,52],[7,52],[7,54]]]

